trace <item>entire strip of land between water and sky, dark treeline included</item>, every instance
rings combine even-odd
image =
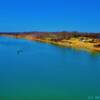
[[[81,32],[1,32],[0,36],[23,38],[71,48],[100,52],[100,33]]]

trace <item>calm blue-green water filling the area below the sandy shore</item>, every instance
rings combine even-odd
[[[99,97],[100,54],[0,37],[0,100]]]

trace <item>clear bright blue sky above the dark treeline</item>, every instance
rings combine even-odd
[[[0,31],[100,32],[100,0],[0,0]]]

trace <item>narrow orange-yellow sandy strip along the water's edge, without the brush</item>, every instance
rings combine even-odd
[[[4,36],[11,37],[11,38],[26,39],[26,40],[31,40],[31,41],[39,41],[39,42],[58,45],[58,46],[62,46],[62,47],[86,49],[89,51],[100,52],[100,47],[94,47],[94,45],[96,45],[96,43],[83,42],[83,41],[80,41],[79,38],[71,38],[69,40],[53,41],[51,38],[41,39],[41,38],[36,38],[32,35],[24,35],[24,36],[18,35],[17,37],[13,36],[13,35],[12,36],[4,35]]]

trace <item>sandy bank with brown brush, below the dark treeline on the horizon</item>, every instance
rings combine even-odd
[[[94,35],[94,34],[93,34]],[[81,36],[79,35],[78,37],[76,36],[70,36],[68,37],[67,35],[64,34],[51,34],[49,35],[46,33],[41,33],[38,34],[2,34],[2,36],[7,36],[11,38],[21,38],[21,39],[26,39],[26,40],[31,40],[31,41],[39,41],[39,42],[44,42],[44,43],[49,43],[53,45],[58,45],[62,47],[70,47],[70,48],[76,48],[76,49],[86,49],[89,51],[96,51],[100,52],[100,39],[91,37],[90,36]],[[66,37],[65,37],[66,36]],[[61,38],[62,37],[62,38]]]

